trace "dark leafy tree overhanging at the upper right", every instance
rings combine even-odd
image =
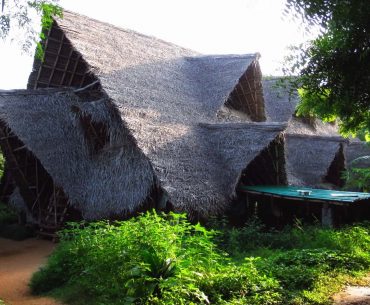
[[[319,25],[321,34],[290,57],[298,77],[298,113],[340,119],[343,133],[370,136],[369,0],[287,0],[288,13]]]

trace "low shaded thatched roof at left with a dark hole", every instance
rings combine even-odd
[[[87,114],[108,127],[109,142],[98,153],[90,151],[79,121]],[[86,219],[136,210],[154,183],[148,159],[117,118],[109,100],[81,103],[70,90],[0,93],[0,119]]]

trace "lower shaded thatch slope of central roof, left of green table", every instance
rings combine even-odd
[[[284,127],[200,124],[148,156],[175,207],[207,215],[225,207],[243,169]]]

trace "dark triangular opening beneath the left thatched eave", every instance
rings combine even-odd
[[[0,146],[7,161],[7,171],[16,182],[24,200],[26,212],[39,226],[40,233],[53,234],[67,214],[80,218],[70,205],[62,188],[27,146],[0,121]]]

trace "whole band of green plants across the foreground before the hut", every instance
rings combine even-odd
[[[370,224],[271,231],[146,213],[71,224],[31,289],[68,304],[328,304],[370,270]],[[215,225],[213,225],[215,226]]]

